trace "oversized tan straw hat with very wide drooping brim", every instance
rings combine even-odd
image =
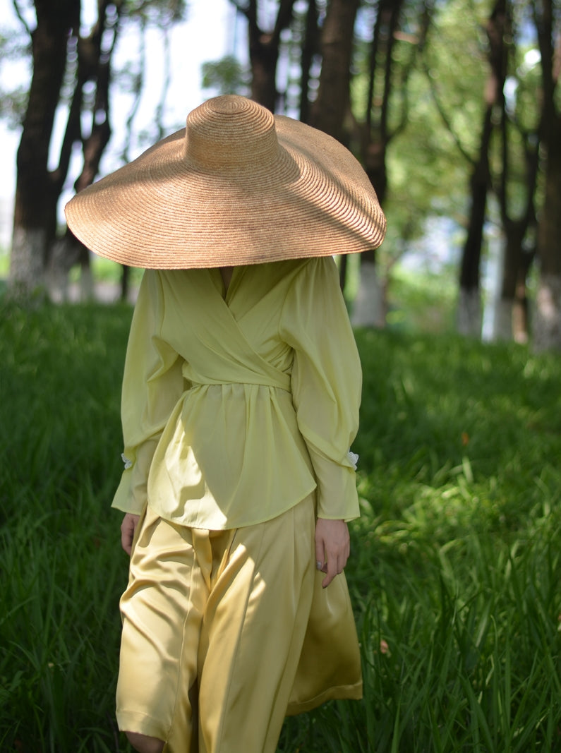
[[[186,128],[80,191],[66,219],[96,254],[157,269],[361,252],[386,231],[346,148],[233,95],[204,102]]]

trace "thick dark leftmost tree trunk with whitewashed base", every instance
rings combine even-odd
[[[32,32],[33,75],[17,151],[14,236],[10,285],[32,291],[43,273],[56,235],[59,181],[48,169],[50,139],[66,69],[66,47],[80,14],[79,0],[36,0]]]

